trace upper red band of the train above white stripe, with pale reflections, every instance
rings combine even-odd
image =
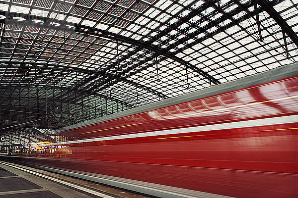
[[[283,116],[283,115],[293,115],[297,114],[297,110],[293,109],[288,109],[287,112],[270,112],[269,111],[269,106],[265,105],[267,102],[272,102],[272,101],[278,101],[281,99],[284,99],[285,101],[283,102],[291,102],[292,103],[295,101],[295,98],[298,96],[289,96],[286,94],[286,91],[291,91],[292,87],[287,87],[287,90],[283,90],[281,88],[281,85],[284,86],[297,86],[297,81],[298,78],[297,76],[294,77],[289,77],[283,80],[278,80],[278,81],[273,81],[271,83],[264,83],[261,85],[257,86],[251,86],[248,88],[244,89],[239,89],[236,91],[232,92],[227,92],[227,93],[222,93],[218,94],[215,96],[211,97],[206,97],[203,99],[197,99],[197,100],[191,100],[188,102],[180,103],[180,104],[175,104],[171,105],[168,107],[163,107],[159,108],[156,110],[152,111],[147,111],[147,112],[142,112],[134,115],[129,115],[125,116],[122,118],[117,118],[109,121],[104,121],[96,124],[91,124],[63,132],[59,132],[59,135],[62,136],[70,136],[70,137],[77,137],[77,139],[81,138],[95,138],[95,137],[105,137],[105,136],[111,136],[111,135],[123,135],[123,134],[131,134],[131,133],[142,133],[142,132],[149,132],[149,131],[158,131],[158,130],[165,130],[165,129],[176,129],[176,128],[181,128],[181,127],[190,127],[190,126],[201,126],[201,125],[209,125],[209,124],[217,124],[217,123],[226,123],[226,122],[233,122],[233,121],[243,121],[243,120],[253,120],[253,119],[260,119],[260,118],[266,118],[266,117],[278,117],[278,116]],[[277,91],[282,92],[282,95],[274,95],[275,93],[272,93],[270,96],[270,99],[266,99],[263,95],[261,96],[262,99],[266,99],[265,101],[256,101],[255,98],[260,98],[257,96],[253,96],[254,99],[249,100],[248,97],[251,97],[251,95],[246,96],[246,91],[250,94],[254,93],[259,93],[259,89],[263,88],[264,86],[272,86],[274,89]],[[268,93],[267,93],[268,94]],[[269,95],[271,93],[269,92]],[[238,98],[235,98],[235,97]],[[225,100],[224,100],[225,99]],[[234,100],[231,100],[234,99]],[[221,102],[224,102],[226,105],[226,108],[223,108],[222,104],[220,106],[212,106],[208,107],[209,110],[204,110],[202,109],[203,107],[199,107],[200,105],[198,102],[201,101],[218,101],[221,100]],[[232,101],[232,102],[230,102]],[[295,101],[296,102],[296,101]],[[219,102],[215,104],[220,104]],[[240,104],[240,105],[239,105]],[[250,105],[261,105],[264,104],[264,106],[260,106],[259,108],[262,109],[263,111],[267,111],[266,113],[264,112],[263,115],[258,115],[256,116],[254,113],[254,108],[250,108]],[[273,103],[274,104],[274,103]],[[273,105],[271,103],[271,106]],[[200,112],[200,119],[198,119],[197,116],[190,116],[190,117],[184,117],[184,118],[179,118],[176,117],[174,118],[173,114],[169,114],[166,109],[176,109],[177,106],[184,106],[183,107],[183,114],[187,116],[189,113],[195,113],[196,111],[194,109],[191,109],[189,105],[194,106],[196,111]],[[244,105],[244,106],[243,106]],[[277,106],[277,111],[280,109],[282,104],[279,104]],[[235,111],[235,108],[237,106],[240,106],[239,109],[244,108],[247,106],[247,108],[250,109],[245,109],[246,113],[243,113],[243,115],[236,114],[237,111]],[[283,105],[282,105],[283,106]],[[287,108],[286,106],[283,106],[284,108]],[[266,108],[268,108],[266,110]],[[270,107],[273,108],[273,107]],[[201,109],[201,110],[200,110]],[[219,112],[223,109],[226,109],[228,112]],[[203,111],[202,111],[203,110]],[[215,114],[214,115],[201,115],[202,113],[210,112],[212,110]],[[173,119],[165,119],[165,120],[158,120],[152,118],[149,114],[157,112],[157,111],[162,111],[165,114],[169,116],[173,116]],[[243,109],[244,111],[244,109]],[[241,112],[241,110],[240,110]],[[138,120],[138,121],[136,121]],[[139,124],[142,124],[142,127],[139,126]],[[134,126],[136,125],[136,126]],[[123,130],[123,127],[125,127],[125,130]],[[140,128],[142,130],[140,130]],[[100,130],[98,130],[100,129]],[[90,132],[90,133],[88,133]]]

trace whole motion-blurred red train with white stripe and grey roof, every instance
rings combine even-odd
[[[298,64],[58,134],[79,138],[64,158],[14,160],[158,197],[297,198]]]

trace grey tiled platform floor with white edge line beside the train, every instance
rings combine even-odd
[[[0,198],[147,198],[120,189],[0,161]]]

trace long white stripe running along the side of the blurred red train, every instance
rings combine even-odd
[[[46,144],[45,146],[65,145],[65,144],[104,141],[104,140],[119,140],[119,139],[127,139],[127,138],[141,138],[141,137],[149,137],[149,136],[192,133],[192,132],[199,132],[199,131],[214,131],[214,130],[234,129],[234,128],[244,128],[244,127],[257,127],[257,126],[266,126],[266,125],[295,123],[295,122],[298,122],[298,115],[229,122],[229,123],[222,123],[222,124],[212,124],[212,125],[197,126],[197,127],[186,127],[186,128],[179,128],[179,129],[168,129],[168,130],[162,130],[162,131],[117,135],[117,136],[109,136],[109,137],[102,137],[102,138],[74,140],[74,141]]]

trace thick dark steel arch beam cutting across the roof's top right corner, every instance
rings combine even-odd
[[[256,0],[257,3],[275,20],[275,22],[282,28],[298,47],[298,36],[290,25],[283,19],[283,17],[274,9],[272,3],[268,0]]]

